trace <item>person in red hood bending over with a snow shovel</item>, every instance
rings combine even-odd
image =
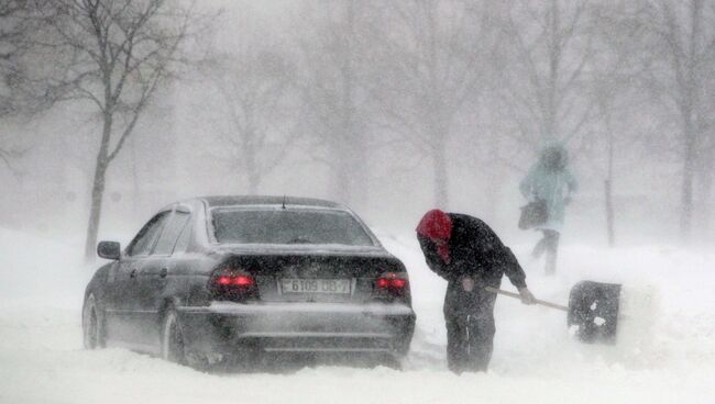
[[[444,296],[447,361],[455,373],[486,371],[492,359],[494,302],[506,274],[521,302],[534,304],[526,274],[512,250],[481,220],[458,213],[429,211],[417,226],[427,266],[449,283]]]

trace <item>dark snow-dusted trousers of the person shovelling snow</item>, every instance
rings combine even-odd
[[[496,294],[476,292],[468,311],[446,314],[447,363],[455,373],[486,371],[494,349]]]

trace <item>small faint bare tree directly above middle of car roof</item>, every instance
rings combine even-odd
[[[212,105],[212,112],[230,126],[224,137],[231,146],[231,165],[245,177],[252,194],[284,162],[297,139],[300,116],[294,66],[284,54],[253,45],[235,56],[219,56],[206,67],[220,94],[220,105]]]

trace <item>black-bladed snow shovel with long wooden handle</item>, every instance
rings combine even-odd
[[[487,292],[520,299],[518,293],[491,287],[485,289]],[[538,299],[536,303],[566,312],[569,329],[574,329],[576,337],[581,341],[587,344],[615,344],[620,284],[582,281],[571,289],[569,306]]]

